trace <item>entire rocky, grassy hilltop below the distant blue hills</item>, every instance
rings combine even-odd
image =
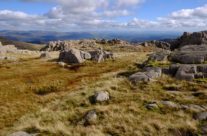
[[[0,56],[0,135],[207,134],[206,31],[171,42],[51,41],[40,51],[0,43]]]

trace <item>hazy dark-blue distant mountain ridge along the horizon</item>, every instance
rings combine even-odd
[[[174,39],[179,32],[52,32],[52,31],[0,31],[0,36],[10,40],[30,43],[47,43],[57,40],[80,39],[121,39],[128,42],[143,42],[147,40]]]

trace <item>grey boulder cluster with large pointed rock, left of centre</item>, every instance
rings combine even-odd
[[[113,53],[97,48],[95,40],[52,41],[41,50],[41,58],[56,59],[61,65],[81,64],[86,60],[100,63],[106,59],[113,59]]]

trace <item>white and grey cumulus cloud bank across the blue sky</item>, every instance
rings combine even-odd
[[[42,2],[41,0],[19,0]],[[98,1],[98,2],[97,2]],[[0,10],[0,27],[7,29],[83,30],[83,29],[150,29],[175,30],[183,28],[206,28],[207,5],[194,9],[181,9],[156,20],[134,17],[126,22],[118,17],[132,17],[132,6],[144,0],[45,0],[55,3],[45,14],[27,14],[21,11]]]

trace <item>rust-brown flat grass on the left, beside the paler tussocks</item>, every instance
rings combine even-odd
[[[50,101],[97,81],[105,73],[127,68],[126,63],[137,61],[132,58],[143,55],[134,53],[130,54],[131,58],[118,58],[100,64],[87,62],[75,69],[64,69],[53,62],[38,59],[1,64],[0,129],[11,127],[26,113],[34,112]],[[55,92],[51,91],[51,85]],[[49,93],[38,95],[37,90]]]

